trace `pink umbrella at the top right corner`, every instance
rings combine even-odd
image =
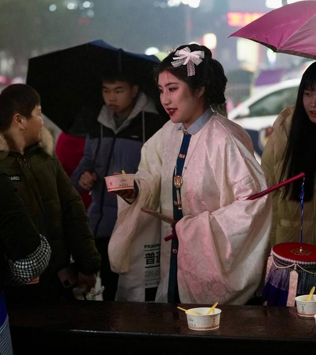
[[[316,59],[316,1],[279,7],[229,37],[251,39],[275,52]]]

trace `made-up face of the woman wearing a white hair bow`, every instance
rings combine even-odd
[[[173,123],[184,123],[186,128],[206,110],[203,90],[192,92],[189,85],[169,72],[158,77],[160,101]]]

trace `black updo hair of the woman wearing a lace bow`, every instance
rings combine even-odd
[[[196,50],[204,51],[204,59],[202,59],[200,64],[194,65],[195,75],[192,76],[188,76],[186,65],[174,67],[171,64],[171,62],[175,60],[173,59],[173,57],[175,57],[175,52],[185,47],[189,47],[191,52]],[[204,45],[181,45],[174,52],[165,57],[158,65],[155,73],[157,81],[159,74],[162,72],[169,72],[176,78],[186,82],[192,91],[204,87],[205,99],[211,106],[221,105],[226,101],[224,93],[227,78],[224,74],[224,69],[220,62],[212,58],[212,52]]]

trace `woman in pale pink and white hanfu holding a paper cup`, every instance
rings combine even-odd
[[[170,121],[144,144],[135,189],[118,192],[109,245],[117,300],[148,300],[161,243],[156,302],[243,305],[266,263],[270,197],[246,199],[267,188],[265,175],[248,134],[212,109],[225,103],[227,79],[208,48],[180,46],[157,75]],[[170,224],[141,207],[177,221],[169,240]]]

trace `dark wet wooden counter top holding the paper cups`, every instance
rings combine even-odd
[[[201,307],[201,305],[199,305]],[[206,305],[207,306],[207,305]],[[181,305],[194,308],[197,305]],[[188,329],[186,315],[160,303],[78,301],[8,310],[14,354],[212,354],[240,350],[292,354],[316,347],[315,319],[294,307],[217,306],[220,328]],[[101,353],[102,351],[102,353]],[[62,354],[63,352],[60,352]]]

